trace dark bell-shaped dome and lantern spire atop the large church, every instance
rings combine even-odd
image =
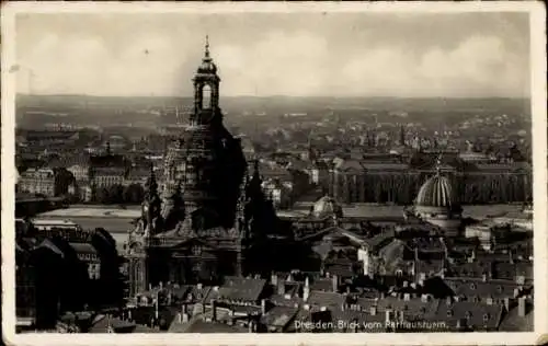
[[[202,228],[231,228],[246,159],[240,140],[232,137],[222,124],[220,78],[210,57],[208,37],[202,64],[192,82],[194,109],[189,126],[168,150],[165,191],[172,194],[175,186],[180,186],[186,217],[195,215],[204,220],[206,224]]]

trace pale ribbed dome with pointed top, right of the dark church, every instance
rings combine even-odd
[[[460,205],[453,182],[441,174],[429,178],[419,189],[416,205],[423,207],[457,207]]]

